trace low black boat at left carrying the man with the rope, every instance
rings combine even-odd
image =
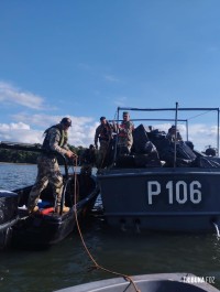
[[[41,147],[21,143],[0,142],[1,149],[42,152]],[[64,191],[62,194],[61,213],[54,213],[52,187],[42,192],[38,203],[40,210],[29,214],[26,209],[32,185],[0,192],[0,244],[1,249],[48,248],[66,238],[74,231],[77,220],[86,220],[99,194],[96,177],[89,173],[68,173],[65,158]],[[63,206],[69,212],[63,213]]]

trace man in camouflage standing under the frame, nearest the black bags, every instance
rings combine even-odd
[[[123,120],[117,128],[119,154],[129,154],[133,144],[134,125],[128,111],[123,111]]]

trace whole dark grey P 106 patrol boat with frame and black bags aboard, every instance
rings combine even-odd
[[[215,112],[219,154],[219,108],[178,108],[178,104],[161,109],[119,107],[118,121],[121,110],[146,115],[173,111],[175,117],[170,120],[176,129],[180,111]],[[188,120],[184,121],[188,138]],[[194,150],[189,141],[170,142],[165,132],[143,123],[135,128],[133,139],[131,154],[118,155],[116,145],[112,165],[97,175],[107,223],[122,230],[217,231],[220,235],[219,156]]]

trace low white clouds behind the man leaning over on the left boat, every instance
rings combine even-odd
[[[89,117],[72,117],[69,128],[69,143],[88,147],[94,143],[97,122]],[[0,123],[0,141],[42,143],[43,132],[51,126],[58,123],[63,116],[46,116],[18,113],[13,116],[18,122]]]

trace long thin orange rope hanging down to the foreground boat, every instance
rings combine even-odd
[[[76,163],[76,166],[77,166],[77,159],[76,159],[75,163]],[[109,272],[109,273],[112,273],[112,274],[116,274],[116,275],[122,277],[122,278],[124,278],[124,280],[129,281],[129,282],[133,285],[133,288],[134,288],[134,290],[135,290],[136,292],[141,292],[141,290],[136,286],[136,284],[134,283],[133,279],[132,279],[130,275],[127,275],[127,274],[123,274],[123,273],[119,273],[119,272],[116,272],[116,271],[109,270],[109,269],[107,269],[107,268],[100,266],[100,264],[95,260],[95,258],[91,256],[91,253],[90,253],[89,249],[87,248],[87,245],[86,245],[86,242],[85,242],[85,240],[84,240],[84,236],[82,236],[82,234],[81,234],[80,226],[79,226],[79,221],[78,221],[77,207],[76,207],[76,204],[77,204],[77,188],[76,188],[76,182],[77,182],[77,174],[76,174],[76,170],[75,170],[75,172],[74,172],[74,214],[75,214],[75,218],[76,218],[77,229],[78,229],[78,232],[79,232],[79,236],[80,236],[80,239],[81,239],[81,244],[82,244],[82,246],[84,246],[84,248],[85,248],[85,250],[86,250],[88,257],[90,258],[90,260],[91,260],[91,261],[94,262],[94,264],[95,264],[94,267],[90,268],[90,270],[95,270],[95,269],[97,269],[97,270],[102,270],[102,271],[106,271],[106,272]]]

